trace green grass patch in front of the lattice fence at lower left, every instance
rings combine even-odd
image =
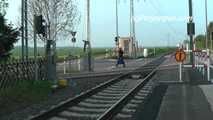
[[[0,96],[16,102],[37,103],[47,99],[50,93],[51,82],[49,81],[23,81],[14,87],[1,90]]]

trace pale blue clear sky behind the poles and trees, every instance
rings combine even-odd
[[[85,1],[76,0],[82,16],[78,31],[77,46],[85,39]],[[8,21],[17,24],[20,20],[21,0],[9,0]],[[205,32],[205,1],[193,0],[196,34]],[[208,11],[213,11],[212,0],[208,0]],[[213,21],[213,14],[208,14]],[[186,39],[188,0],[135,0],[136,38],[142,46],[176,45]],[[175,19],[176,18],[176,19]],[[114,46],[115,0],[91,0],[92,45],[95,47]],[[129,35],[129,0],[120,0],[119,34]],[[57,43],[71,45],[70,40]]]

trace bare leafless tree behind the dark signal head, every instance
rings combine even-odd
[[[51,26],[53,40],[71,38],[71,31],[80,21],[76,0],[29,0],[29,33],[33,37],[33,17],[42,14],[47,25]],[[40,37],[41,40],[42,37]]]

